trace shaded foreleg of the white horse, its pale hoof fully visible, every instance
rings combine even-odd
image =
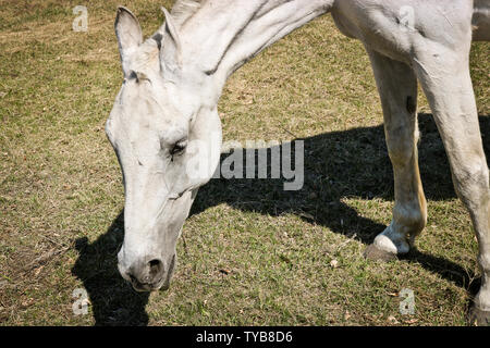
[[[427,221],[426,199],[417,156],[417,78],[413,70],[368,50],[384,117],[384,135],[393,165],[393,220],[365,256],[390,260],[408,252]]]

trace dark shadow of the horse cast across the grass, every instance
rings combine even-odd
[[[480,116],[479,121],[488,158],[490,139],[486,135],[490,134],[490,117]],[[446,154],[432,115],[419,114],[419,166],[427,199],[456,197]],[[282,178],[212,178],[199,189],[189,215],[220,203],[272,216],[293,213],[311,224],[327,226],[334,233],[348,237],[355,234],[363,244],[372,243],[385,225],[359,215],[343,200],[350,197],[394,199],[393,173],[382,125],[296,140],[304,141],[304,184],[299,190],[284,190]],[[283,145],[279,145],[279,148],[284,150]],[[292,159],[295,159],[295,149],[291,147]],[[273,150],[274,147],[267,149],[268,174],[271,173]],[[235,151],[243,151],[243,158],[246,158],[245,150]],[[229,156],[222,154],[221,163]],[[257,163],[258,153],[254,156]],[[245,167],[243,177],[246,175]],[[148,323],[145,311],[148,294],[135,293],[118,272],[117,252],[123,241],[123,231],[121,212],[106,234],[93,244],[88,244],[86,238],[76,241],[79,257],[72,271],[88,291],[96,325]],[[479,288],[478,281],[473,281],[474,274],[468,274],[461,265],[444,258],[415,248],[404,259],[419,263],[471,294]]]

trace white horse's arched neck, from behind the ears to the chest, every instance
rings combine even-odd
[[[200,2],[180,26],[183,62],[212,80],[217,98],[226,78],[294,29],[329,12],[334,0]]]

